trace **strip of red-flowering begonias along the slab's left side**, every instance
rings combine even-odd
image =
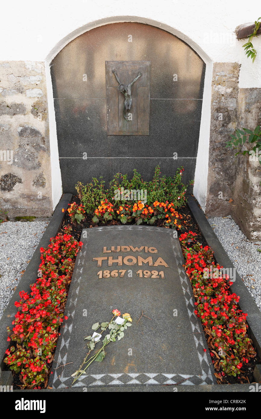
[[[31,293],[21,291],[20,301],[8,341],[15,346],[6,350],[5,364],[20,374],[25,387],[40,388],[47,383],[47,364],[54,357],[58,329],[63,320],[75,257],[83,245],[69,234],[59,233],[47,248],[41,248],[40,277],[30,286]]]

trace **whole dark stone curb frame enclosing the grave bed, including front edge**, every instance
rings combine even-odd
[[[5,312],[2,316],[2,318],[0,319],[0,334],[1,336],[4,336],[7,332],[6,332],[6,326],[10,326],[13,317],[16,314],[16,310],[14,310],[14,301],[18,300],[19,297],[19,291],[20,291],[20,287],[19,285],[21,284],[26,284],[29,286],[29,284],[31,284],[31,277],[32,275],[37,275],[37,271],[39,269],[39,263],[40,263],[40,253],[39,253],[39,249],[40,247],[44,247],[44,246],[48,246],[49,244],[49,239],[51,237],[53,237],[54,235],[56,235],[59,230],[60,230],[60,226],[62,225],[62,222],[64,220],[65,217],[65,212],[63,213],[61,210],[62,208],[67,208],[68,205],[70,204],[72,200],[72,194],[63,194],[61,199],[59,200],[59,203],[57,204],[56,209],[54,210],[54,214],[52,215],[52,218],[49,222],[49,225],[47,226],[40,242],[39,245],[36,247],[36,250],[34,251],[34,254],[28,264],[28,266],[26,267],[26,271],[23,274],[23,277],[21,278],[15,292],[13,293],[13,296],[11,297],[7,307],[5,308]],[[204,212],[202,211],[201,207],[199,207],[199,203],[196,201],[196,199],[194,198],[194,196],[189,195],[187,198],[187,204],[189,206],[189,209],[193,215],[193,218],[195,220],[195,222],[197,223],[199,230],[202,234],[202,236],[204,237],[205,241],[208,243],[209,246],[212,246],[213,251],[215,252],[215,259],[218,261],[218,263],[220,265],[224,265],[224,259],[223,258],[227,258],[229,261],[229,257],[226,253],[226,251],[224,250],[224,248],[222,247],[222,244],[220,243],[219,239],[217,238],[216,234],[214,233],[214,231],[212,230],[212,227],[210,226],[209,222],[207,221],[207,218],[204,215]],[[52,225],[52,228],[49,229],[49,226]],[[146,226],[140,226],[140,227],[146,227]],[[48,238],[49,235],[49,238]],[[212,243],[212,244],[210,244]],[[37,260],[37,263],[36,263]],[[39,260],[39,263],[38,263]],[[230,261],[231,262],[231,261]],[[231,262],[231,266],[233,267],[233,264]],[[238,274],[238,272],[236,273],[237,277],[240,276]],[[241,280],[241,279],[240,279]],[[243,283],[243,281],[241,280],[241,282]],[[245,289],[244,289],[245,288]],[[23,287],[21,287],[21,289],[23,289]],[[242,294],[242,290],[244,291]],[[238,292],[238,294],[241,292],[241,302],[242,300],[242,295],[244,295],[244,298],[246,297],[248,300],[248,304],[251,303],[256,306],[255,301],[253,300],[253,297],[251,296],[251,294],[249,293],[249,291],[247,290],[247,288],[245,287],[245,285],[241,284],[240,290],[237,291],[237,287],[236,287],[236,281],[233,284],[233,291],[234,292]],[[240,303],[241,303],[240,302]],[[244,304],[241,304],[241,309],[243,307]],[[259,320],[259,324],[261,325],[261,312],[258,309],[258,307],[256,306],[257,310],[258,310],[258,320]],[[13,316],[13,317],[12,317]],[[257,323],[256,322],[256,326],[255,324],[249,324],[249,319],[248,319],[248,324],[249,324],[249,328],[250,328],[250,333],[251,333],[251,339],[253,339],[253,342],[256,346],[256,349],[258,351],[258,354],[260,356],[261,354],[261,337],[260,334],[261,332],[258,332],[257,328]],[[201,325],[202,328],[202,325]],[[203,330],[203,328],[202,328]],[[255,333],[257,334],[257,336],[255,335]],[[3,367],[3,358],[5,357],[5,350],[7,349],[8,345],[5,341],[5,339],[1,339],[0,341],[0,367]],[[56,348],[57,349],[57,348]],[[207,351],[208,352],[208,351]],[[5,374],[8,373],[8,374]],[[5,381],[5,383],[3,384],[7,384],[11,382],[13,382],[13,375],[11,371],[2,371],[2,374],[0,374],[0,384],[2,384],[2,380]],[[182,391],[182,392],[191,392],[191,391],[196,391],[196,392],[249,392],[249,385],[251,384],[227,384],[227,385],[219,385],[219,384],[209,384],[209,385],[177,385],[178,387],[178,391]],[[72,387],[70,388],[70,392],[84,392],[86,387]],[[171,391],[173,392],[173,386],[169,386],[169,385],[120,385],[120,386],[90,386],[88,387],[88,391],[92,391],[92,392],[101,392],[101,391],[112,391],[115,392],[115,388],[119,388],[120,391],[137,391],[137,392],[149,392],[149,391],[159,391],[159,388],[161,388],[160,391]],[[13,392],[33,392],[33,393],[38,393],[38,392],[43,392],[43,393],[49,393],[49,392],[65,392],[68,391],[67,388],[58,388],[58,389],[52,389],[52,388],[45,388],[45,389],[41,389],[41,390],[13,390]]]

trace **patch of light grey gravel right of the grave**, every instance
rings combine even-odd
[[[249,241],[230,216],[208,222],[261,310],[261,242]]]

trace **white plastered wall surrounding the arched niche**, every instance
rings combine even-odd
[[[107,23],[134,21],[165,29],[189,44],[206,63],[202,120],[196,162],[194,195],[202,208],[207,191],[211,81],[213,62],[241,64],[239,87],[261,88],[261,37],[254,39],[259,52],[252,64],[237,41],[235,27],[253,23],[260,16],[260,2],[253,0],[26,0],[2,6],[0,60],[44,61],[46,65],[52,194],[55,207],[62,192],[59,170],[52,82],[49,65],[55,55],[80,34]]]

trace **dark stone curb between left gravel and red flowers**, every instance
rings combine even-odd
[[[34,283],[37,278],[37,272],[39,269],[39,264],[41,263],[41,247],[47,247],[50,243],[50,238],[57,235],[59,232],[62,222],[65,217],[65,212],[62,212],[62,208],[66,209],[70,204],[72,199],[72,194],[63,194],[62,198],[57,205],[54,214],[44,231],[44,234],[39,242],[39,245],[36,247],[33,256],[31,257],[26,270],[18,283],[15,292],[13,293],[10,301],[5,308],[3,316],[0,319],[0,367],[3,369],[3,359],[5,357],[5,351],[8,348],[8,343],[6,341],[7,338],[7,331],[6,328],[9,326],[12,327],[12,321],[17,313],[17,308],[15,307],[14,303],[20,300],[19,292],[24,290],[28,292],[30,290],[30,284]],[[10,372],[11,374],[11,372]]]

